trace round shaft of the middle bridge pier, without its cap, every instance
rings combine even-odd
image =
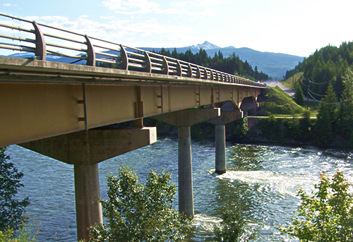
[[[190,126],[178,126],[179,212],[193,217],[193,175]]]

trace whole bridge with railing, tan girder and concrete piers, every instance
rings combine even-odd
[[[0,147],[18,144],[73,164],[78,240],[102,223],[97,163],[157,141],[152,117],[178,126],[179,211],[193,217],[190,126],[215,124],[215,169],[225,123],[253,109],[265,86],[123,44],[0,13]],[[61,62],[58,62],[61,61]],[[105,66],[105,67],[104,67]],[[114,128],[133,121],[133,128]]]

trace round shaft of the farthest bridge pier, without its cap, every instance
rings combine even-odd
[[[215,125],[215,169],[217,174],[224,174],[227,170],[225,164],[225,124]]]

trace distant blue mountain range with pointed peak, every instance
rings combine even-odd
[[[209,56],[215,56],[215,53],[222,52],[223,56],[227,57],[233,53],[239,56],[242,61],[248,61],[253,68],[258,66],[259,71],[263,71],[270,75],[270,77],[278,79],[283,78],[287,70],[292,70],[299,61],[303,61],[304,57],[302,56],[294,56],[290,54],[281,54],[281,53],[272,53],[272,52],[258,52],[254,49],[242,47],[235,48],[232,46],[229,47],[218,47],[215,44],[211,44],[210,42],[203,42],[203,44],[191,45],[189,47],[179,47],[177,52],[186,52],[188,49],[193,52],[193,54],[200,51],[203,48],[207,52]],[[138,49],[152,51],[154,49],[156,52],[159,52],[162,48],[150,48],[150,47],[140,47]],[[172,48],[164,48],[165,50],[169,50],[172,52],[174,47]]]

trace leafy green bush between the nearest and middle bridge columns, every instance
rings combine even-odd
[[[177,189],[172,174],[150,171],[146,183],[129,167],[109,174],[108,199],[101,200],[106,224],[90,231],[90,241],[181,241],[191,220],[172,208]]]

